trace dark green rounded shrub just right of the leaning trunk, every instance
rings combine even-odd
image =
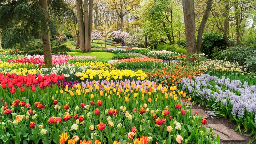
[[[201,52],[209,57],[212,57],[213,51],[222,51],[228,46],[223,35],[218,35],[215,32],[203,34]]]

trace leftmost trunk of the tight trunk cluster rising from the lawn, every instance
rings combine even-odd
[[[77,22],[78,22],[78,32],[79,32],[79,43],[80,43],[80,51],[84,51],[84,20],[83,20],[83,9],[82,9],[82,1],[76,0],[76,11],[77,11]],[[77,38],[78,39],[78,38]]]

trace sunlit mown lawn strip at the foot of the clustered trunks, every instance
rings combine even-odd
[[[98,59],[112,59],[112,56],[116,55],[111,52],[90,52],[90,53],[81,53],[81,52],[68,52],[69,55],[83,55],[83,56],[96,56]]]

